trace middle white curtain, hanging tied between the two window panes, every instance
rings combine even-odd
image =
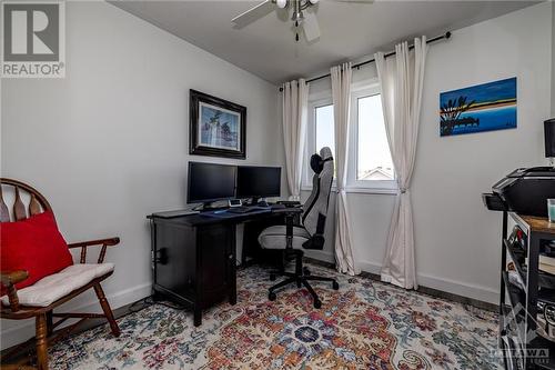
[[[335,262],[343,273],[356,274],[351,242],[351,222],[346,202],[346,168],[349,153],[349,126],[351,116],[351,63],[332,67],[333,117],[335,126],[335,174],[337,182],[337,200],[335,202]]]

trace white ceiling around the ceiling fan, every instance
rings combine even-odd
[[[315,9],[322,36],[294,40],[284,11],[234,29],[231,19],[261,1],[112,1],[272,83],[327,72],[330,66],[391,50],[414,36],[435,37],[525,8],[537,1],[380,1],[372,4],[322,0]],[[456,38],[456,32],[453,33]]]

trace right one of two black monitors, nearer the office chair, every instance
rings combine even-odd
[[[238,167],[238,198],[252,198],[253,203],[259,198],[281,196],[280,167]]]

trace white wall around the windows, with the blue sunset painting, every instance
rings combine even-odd
[[[543,121],[549,117],[552,3],[546,2],[456,30],[427,56],[418,152],[412,199],[418,282],[496,302],[501,216],[487,211],[481,193],[517,167],[541,166]],[[354,80],[375,77],[375,68]],[[518,128],[441,138],[442,91],[517,77]],[[311,88],[311,96],[329,89]],[[357,263],[380,272],[394,197],[350,194]],[[314,256],[332,260],[332,242]]]

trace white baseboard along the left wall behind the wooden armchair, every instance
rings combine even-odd
[[[122,290],[120,292],[113,293],[113,294],[107,294],[108,301],[110,302],[110,306],[112,310],[123,307],[125,304],[135,302],[140,299],[143,299],[144,297],[148,297],[151,294],[151,287],[152,284],[149,283],[143,283],[133,288],[129,288],[125,290]],[[88,311],[88,312],[100,312],[100,306],[99,301],[95,299],[91,299],[85,303],[79,304],[78,307],[68,307],[68,311]],[[2,323],[11,321],[14,322],[13,320],[2,320]],[[69,322],[68,322],[69,323]],[[3,324],[2,324],[3,327]],[[63,327],[63,326],[61,326]],[[0,340],[0,349],[3,350],[6,348],[19,344],[28,340],[29,338],[34,336],[34,320],[29,319],[21,321],[21,324],[13,326],[9,329],[3,330],[1,332],[1,340]]]

